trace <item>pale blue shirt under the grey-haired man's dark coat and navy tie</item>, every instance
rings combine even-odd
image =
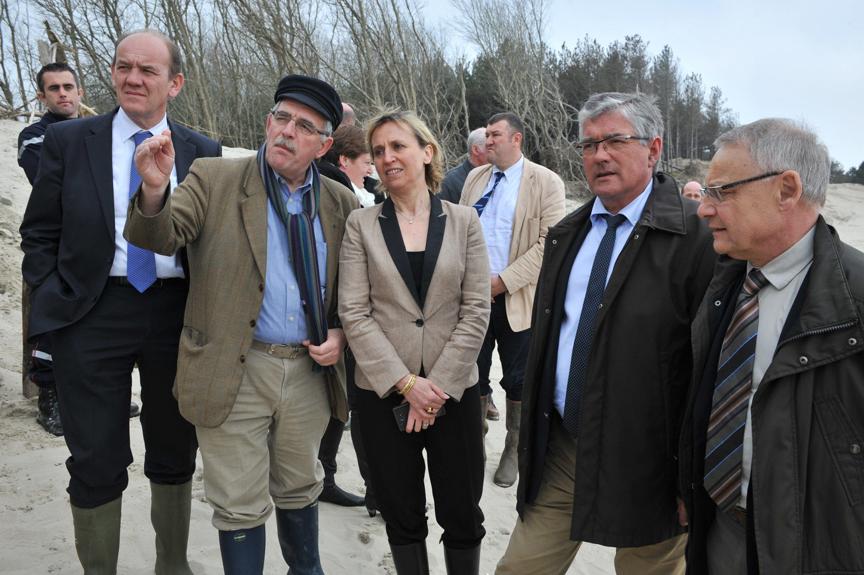
[[[618,261],[618,256],[627,243],[627,238],[630,237],[633,227],[636,227],[636,222],[642,217],[642,210],[645,209],[645,202],[648,201],[653,187],[654,181],[652,179],[651,182],[648,182],[645,191],[637,195],[633,201],[627,204],[626,208],[619,211],[619,214],[623,215],[626,220],[615,229],[615,245],[612,250],[612,259],[609,260],[609,272],[606,274],[607,284],[609,278],[612,277],[615,262]],[[576,259],[573,262],[573,268],[570,269],[567,296],[564,298],[564,318],[561,322],[561,335],[558,337],[558,361],[555,371],[555,408],[562,417],[564,417],[564,403],[567,401],[570,360],[573,358],[573,344],[576,340],[576,330],[579,329],[582,303],[585,303],[585,292],[588,291],[588,279],[591,278],[594,257],[597,255],[600,241],[603,240],[607,229],[606,219],[600,217],[601,214],[609,214],[609,211],[603,207],[600,198],[594,198],[594,208],[590,215],[591,230],[588,231],[585,241],[582,242],[579,253],[576,254]]]

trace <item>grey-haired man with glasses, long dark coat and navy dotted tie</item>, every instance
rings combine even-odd
[[[497,575],[563,574],[582,541],[621,575],[684,572],[677,444],[690,322],[716,254],[698,204],[657,172],[664,124],[645,93],[579,113],[597,197],[550,227],[519,438],[519,521]]]

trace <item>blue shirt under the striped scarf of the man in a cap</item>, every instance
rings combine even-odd
[[[306,182],[292,193],[288,184],[277,176],[285,207],[291,214],[303,211],[302,197],[312,193],[312,169]],[[315,215],[315,246],[321,278],[321,297],[327,284],[327,244],[321,230],[321,218]],[[267,274],[264,279],[264,304],[255,328],[255,339],[265,343],[300,343],[308,339],[306,314],[300,297],[300,286],[289,262],[288,231],[276,208],[267,200]]]

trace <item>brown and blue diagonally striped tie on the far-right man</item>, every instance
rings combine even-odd
[[[741,451],[759,331],[759,297],[756,294],[767,283],[756,268],[747,274],[735,305],[735,315],[723,339],[717,367],[705,446],[705,489],[724,512],[732,508],[741,495]]]

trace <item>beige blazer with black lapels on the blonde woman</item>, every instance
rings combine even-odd
[[[339,316],[357,358],[357,387],[385,397],[408,374],[457,401],[477,383],[489,325],[489,253],[472,208],[431,196],[418,292],[393,201],[353,212],[340,256]]]

